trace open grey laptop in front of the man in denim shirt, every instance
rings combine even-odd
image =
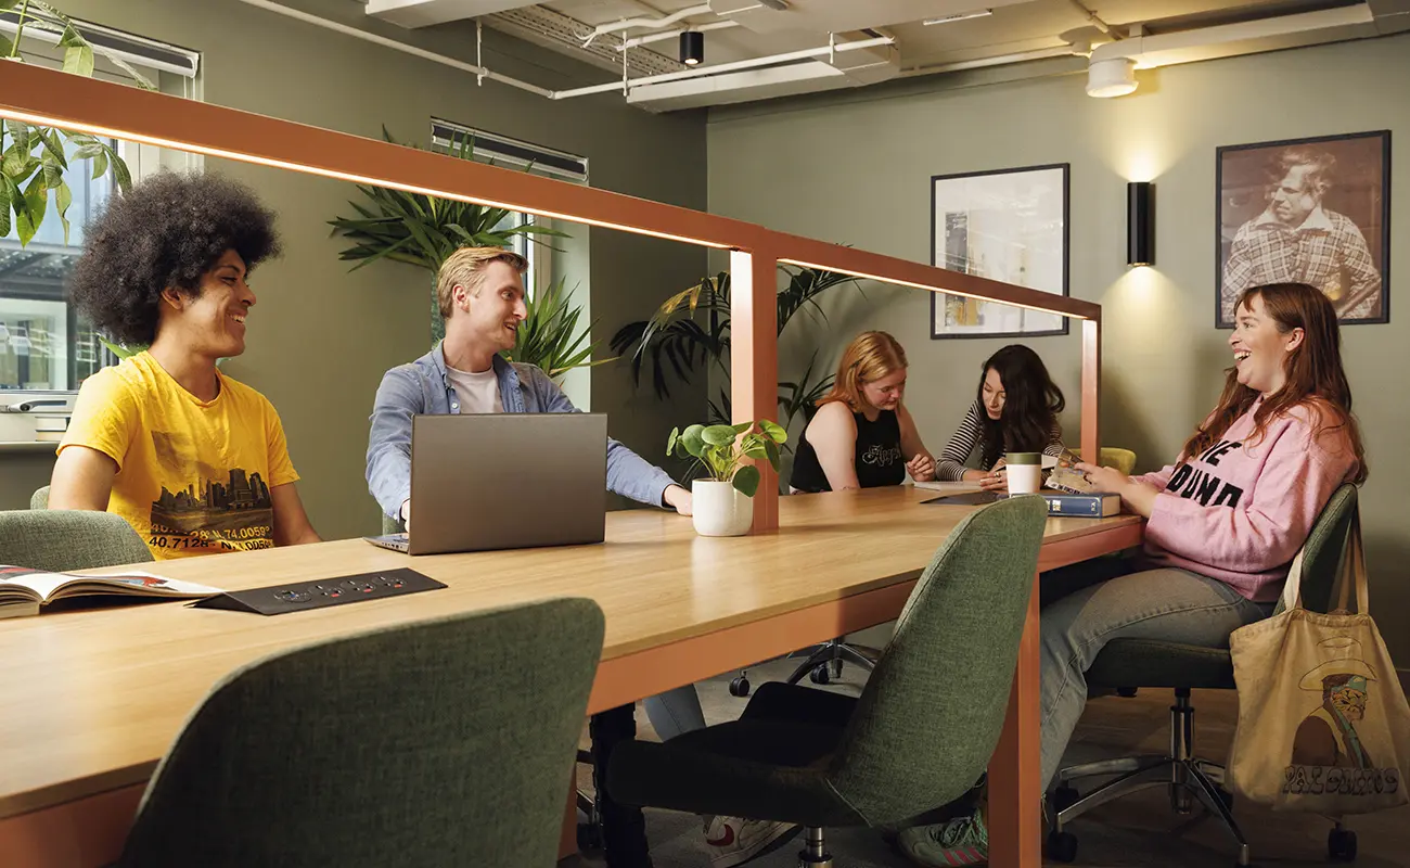
[[[412,418],[412,531],[368,536],[409,555],[602,542],[605,414]]]

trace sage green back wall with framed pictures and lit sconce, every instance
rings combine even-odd
[[[1048,69],[1072,69],[1050,65]],[[1392,164],[1410,167],[1410,35],[1139,72],[1141,89],[1098,100],[1080,75],[993,82],[912,79],[830,97],[718,110],[709,123],[711,210],[804,236],[929,261],[931,175],[1072,164],[1072,294],[1103,305],[1103,440],[1141,467],[1179,452],[1218,398],[1230,333],[1213,326],[1214,150],[1224,144],[1392,130]],[[1155,181],[1156,265],[1125,265],[1125,183]],[[1396,182],[1392,322],[1344,330],[1365,432],[1362,491],[1375,613],[1410,666],[1410,186]],[[845,292],[845,291],[839,291]],[[1400,299],[1400,301],[1396,301]],[[929,301],[867,289],[826,305],[826,326],[790,326],[784,366],[814,346],[829,363],[864,327],[907,347],[907,404],[939,450],[973,399],[979,366],[1004,340],[931,340]],[[1079,327],[1028,343],[1079,397]],[[797,373],[799,368],[787,368]],[[1076,404],[1076,401],[1073,401]],[[1065,416],[1076,439],[1076,406]]]

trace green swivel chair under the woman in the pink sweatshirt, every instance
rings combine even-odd
[[[1332,493],[1303,543],[1303,605],[1327,611],[1332,601],[1347,534],[1356,518],[1356,487],[1342,486]],[[1077,855],[1077,838],[1066,824],[1093,807],[1142,789],[1167,788],[1170,804],[1189,813],[1191,799],[1201,802],[1220,817],[1238,843],[1238,864],[1248,865],[1249,848],[1230,807],[1224,790],[1224,766],[1197,759],[1194,749],[1194,707],[1190,690],[1234,690],[1234,662],[1228,648],[1204,648],[1156,639],[1112,639],[1101,649],[1087,670],[1089,690],[1127,690],[1131,687],[1172,687],[1170,754],[1122,757],[1103,762],[1069,766],[1058,772],[1053,830],[1048,837],[1048,857],[1070,862]],[[1094,775],[1118,775],[1096,788],[1086,797],[1070,786],[1073,780]],[[1355,834],[1338,824],[1328,840],[1334,857],[1355,855]]]

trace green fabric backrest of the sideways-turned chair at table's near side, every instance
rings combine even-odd
[[[1041,497],[986,507],[916,581],[833,759],[833,788],[869,823],[950,802],[988,765],[1046,519]]]

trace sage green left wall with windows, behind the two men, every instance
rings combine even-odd
[[[306,124],[426,143],[430,117],[444,117],[589,159],[594,186],[688,207],[705,206],[705,133],[699,113],[658,117],[605,95],[547,99],[389,48],[330,32],[238,3],[186,0],[65,0],[72,16],[202,52],[204,99]],[[417,34],[367,21],[360,3],[288,3],[326,18],[474,61],[474,25]],[[485,61],[496,72],[546,88],[602,80],[565,58],[485,31]],[[279,213],[286,253],[252,275],[259,298],[244,356],[226,370],[261,390],[279,409],[300,494],[324,538],[379,528],[367,494],[367,416],[382,373],[426,351],[429,275],[376,264],[354,274],[326,220],[350,213],[352,185],[227,161],[209,171],[250,182]],[[570,227],[570,231],[587,231]],[[667,291],[705,268],[699,248],[592,230],[595,334],[646,316]],[[570,284],[574,277],[570,275]],[[585,281],[587,282],[587,281]],[[643,454],[661,452],[673,422],[695,415],[702,388],[674,404],[634,395],[626,366],[592,375],[592,409],[611,414],[611,432]],[[6,504],[8,505],[8,504]]]

